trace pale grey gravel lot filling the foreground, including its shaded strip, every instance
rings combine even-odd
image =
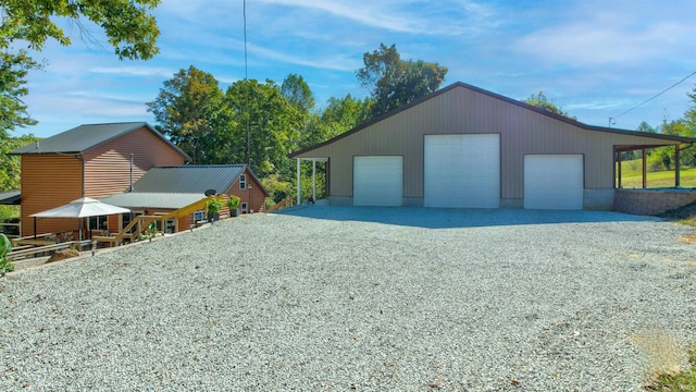
[[[0,390],[639,391],[651,352],[679,365],[696,343],[692,232],[588,211],[225,220],[0,280]]]

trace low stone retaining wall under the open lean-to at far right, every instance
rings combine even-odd
[[[614,211],[658,215],[696,201],[696,191],[616,189]]]

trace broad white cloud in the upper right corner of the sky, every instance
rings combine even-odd
[[[512,50],[548,63],[580,68],[641,63],[650,66],[650,62],[669,61],[672,56],[696,49],[691,39],[696,34],[696,8],[687,9],[691,11],[657,2],[571,5],[551,24],[515,39]],[[684,17],[681,12],[692,15]]]

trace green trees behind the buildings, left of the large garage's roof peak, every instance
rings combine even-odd
[[[310,86],[298,74],[281,84],[238,81],[223,90],[212,74],[190,65],[164,82],[147,106],[156,128],[188,154],[192,164],[247,163],[278,201],[296,181],[289,152],[431,94],[447,74],[437,63],[402,60],[395,45],[382,44],[365,52],[363,61],[356,76],[370,89],[364,99],[332,97],[316,108]]]

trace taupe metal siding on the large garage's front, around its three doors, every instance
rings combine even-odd
[[[500,134],[501,198],[524,197],[524,155],[582,154],[585,187],[613,187],[613,146],[669,143],[580,128],[464,87],[425,100],[298,158],[330,158],[332,196],[352,196],[352,157],[402,155],[405,197],[423,197],[427,134]],[[675,144],[675,142],[674,142]]]

